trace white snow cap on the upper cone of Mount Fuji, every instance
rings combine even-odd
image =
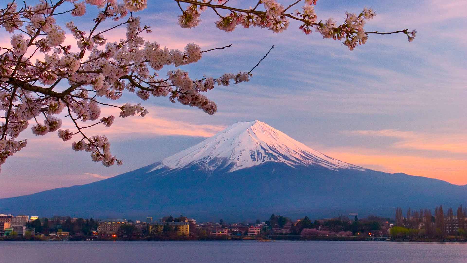
[[[197,145],[165,158],[151,171],[200,165],[211,171],[229,167],[229,172],[233,172],[267,161],[282,162],[291,167],[318,165],[332,170],[365,170],[315,151],[282,131],[255,120],[233,124]]]

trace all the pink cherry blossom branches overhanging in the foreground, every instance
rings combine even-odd
[[[297,0],[285,4],[276,0],[252,0],[252,7],[241,8],[230,5],[229,0],[173,0],[173,6],[180,9],[178,24],[182,28],[198,26],[203,12],[219,16],[215,26],[227,32],[236,27],[260,27],[280,33],[296,23],[305,34],[311,34],[314,29],[323,38],[342,41],[349,50],[365,44],[372,34],[405,34],[409,42],[416,36],[415,30],[407,29],[366,32],[365,23],[376,15],[366,7],[360,14],[345,13],[341,23],[333,18],[323,22],[315,13],[316,2]],[[191,43],[184,51],[179,51],[145,41],[143,35],[150,34],[151,29],[142,25],[135,14],[148,4],[156,2],[37,0],[31,6],[17,1],[0,4],[3,5],[0,6],[1,36],[10,40],[10,44],[0,46],[0,111],[4,113],[0,114],[0,165],[26,146],[27,140],[18,137],[28,127],[35,135],[56,132],[64,141],[73,140],[71,147],[75,151],[89,152],[93,161],[106,166],[121,164],[121,160],[111,154],[106,136],[90,136],[85,134],[85,129],[99,124],[112,125],[114,116],[100,114],[103,106],[119,108],[122,118],[144,117],[148,110],[141,103],[112,105],[104,102],[117,101],[124,92],[131,92],[143,101],[151,96],[164,96],[171,102],[213,114],[217,105],[203,95],[204,92],[216,85],[248,81],[253,76],[255,67],[250,71],[200,79],[191,78],[181,69],[162,73],[164,66],[195,63],[206,52],[228,46],[202,50]],[[64,25],[57,23],[59,16],[82,16],[88,8],[99,9],[92,28],[81,28],[72,21]],[[114,24],[108,27],[105,21]],[[103,24],[107,27],[103,28]],[[127,28],[126,36],[118,42],[107,42],[106,35],[119,27]],[[66,33],[72,34],[76,44],[64,44]],[[61,113],[71,120],[73,129],[61,129],[62,119],[57,117]]]

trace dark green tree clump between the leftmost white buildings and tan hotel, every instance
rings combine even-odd
[[[43,218],[35,219],[26,224],[27,228],[34,228],[35,233],[49,234],[57,233],[58,231],[70,232],[71,235],[82,234],[91,235],[92,231],[96,231],[98,223],[94,219],[71,220],[70,217],[55,216],[51,219]]]

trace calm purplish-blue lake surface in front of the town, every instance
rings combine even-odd
[[[1,241],[0,262],[467,262],[467,243],[384,241]]]

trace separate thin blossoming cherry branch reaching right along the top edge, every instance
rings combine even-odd
[[[233,29],[241,24],[245,28],[250,26],[261,26],[267,27],[273,30],[275,33],[280,33],[287,29],[289,26],[289,19],[303,22],[299,29],[303,30],[305,34],[311,33],[311,28],[316,28],[316,31],[323,35],[323,38],[332,38],[334,40],[345,39],[344,45],[350,50],[353,50],[357,44],[365,44],[368,38],[368,34],[379,34],[388,35],[403,33],[406,34],[409,42],[413,41],[417,31],[413,30],[409,32],[406,30],[398,30],[394,32],[365,32],[363,26],[364,20],[372,19],[375,16],[375,12],[371,8],[364,8],[359,14],[352,14],[346,12],[346,21],[337,25],[333,18],[329,18],[325,23],[318,22],[317,15],[314,7],[317,0],[297,0],[284,8],[281,4],[277,3],[276,0],[260,0],[257,2],[255,8],[242,9],[233,6],[227,6],[228,1],[218,0],[219,4],[213,4],[212,1],[200,1],[200,0],[174,0],[177,5],[182,9],[183,14],[179,17],[179,24],[182,27],[191,28],[197,26],[199,23],[199,16],[202,11],[206,8],[210,8],[216,13],[220,19],[216,22],[219,29],[227,32],[233,31]],[[294,14],[288,13],[287,11],[296,6],[298,3],[304,2],[303,12],[296,10]],[[186,10],[183,10],[180,3],[188,4]],[[260,4],[265,7],[264,11],[257,10]],[[199,8],[198,8],[199,7]],[[220,15],[217,9],[230,11],[229,15]]]

